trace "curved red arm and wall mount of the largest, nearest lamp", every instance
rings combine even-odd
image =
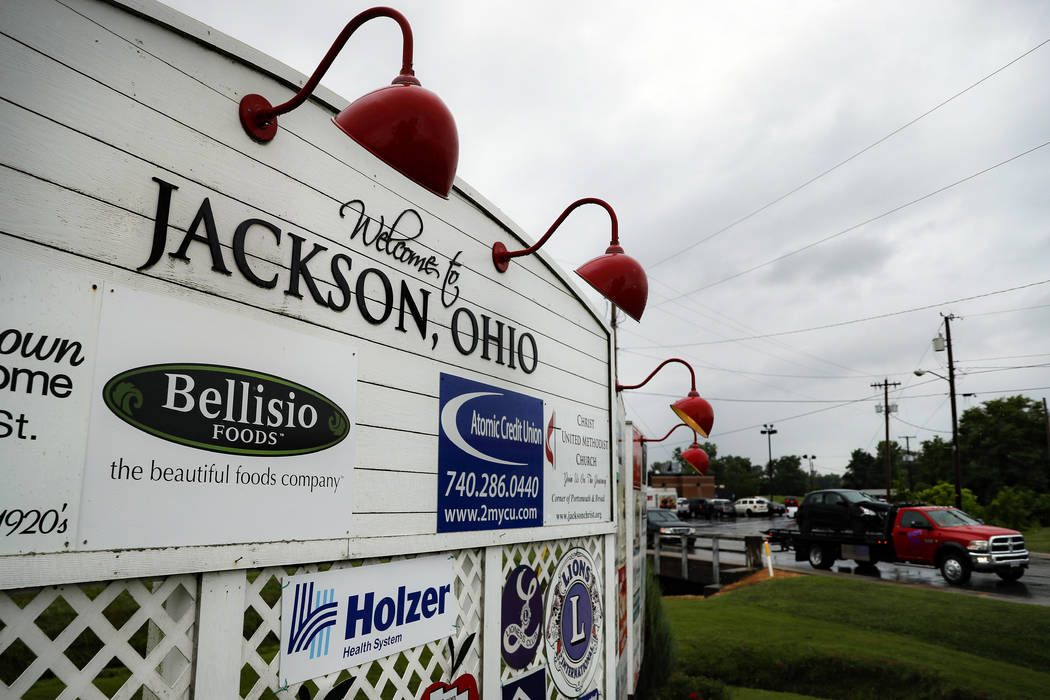
[[[314,70],[314,75],[310,77],[310,80],[307,81],[307,84],[302,86],[302,89],[294,98],[274,107],[261,94],[246,94],[244,97],[240,101],[239,114],[240,124],[245,127],[248,135],[259,142],[271,141],[277,133],[277,116],[292,111],[306,102],[310,93],[317,87],[317,84],[321,82],[321,78],[324,77],[328,69],[332,67],[332,62],[335,61],[335,57],[345,46],[350,36],[362,24],[377,17],[388,17],[397,22],[401,27],[401,36],[403,37],[401,72],[391,84],[419,85],[419,80],[416,79],[416,73],[412,69],[412,27],[408,26],[408,20],[404,18],[404,15],[392,7],[365,9],[350,20],[346,26],[343,27],[342,31],[336,38],[335,43],[332,44],[332,48],[329,49],[329,52],[324,55],[324,58],[318,64],[317,69]]]

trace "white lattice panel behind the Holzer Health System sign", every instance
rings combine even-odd
[[[470,673],[481,678],[481,618],[484,577],[482,550],[466,549],[449,553],[456,561],[456,595],[460,615],[455,638],[459,652],[469,635],[476,634],[469,652],[457,670],[457,675]],[[394,557],[406,558],[406,557]],[[288,687],[277,685],[280,635],[280,581],[289,575],[364,566],[382,559],[357,559],[328,565],[292,568],[261,569],[249,574],[245,604],[245,630],[242,648],[242,697],[295,698],[301,697],[304,687],[314,700],[324,698],[333,687],[348,678],[353,681],[346,698],[385,700],[419,698],[432,682],[450,680],[453,659],[448,639],[439,639],[407,652],[354,666],[337,674],[296,683]],[[279,693],[279,695],[277,695]]]

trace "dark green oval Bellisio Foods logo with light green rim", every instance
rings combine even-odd
[[[242,367],[135,367],[106,382],[102,398],[118,418],[144,432],[226,454],[309,454],[350,434],[350,418],[324,395]]]

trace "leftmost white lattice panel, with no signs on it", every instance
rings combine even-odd
[[[0,591],[0,697],[189,698],[196,577]]]

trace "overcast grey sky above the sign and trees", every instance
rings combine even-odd
[[[167,4],[307,75],[370,6]],[[882,439],[885,379],[892,440],[949,439],[947,383],[912,374],[947,374],[942,313],[958,391],[975,395],[960,413],[1050,395],[1050,3],[392,4],[456,118],[460,177],[537,237],[576,198],[613,206],[650,283],[620,379],[691,362],[719,453],[764,464],[773,423],[774,457],[841,473]],[[377,21],[323,84],[350,101],[399,65]],[[583,208],[547,248],[572,270],[608,232]],[[676,422],[687,374],[627,393],[650,437]]]

